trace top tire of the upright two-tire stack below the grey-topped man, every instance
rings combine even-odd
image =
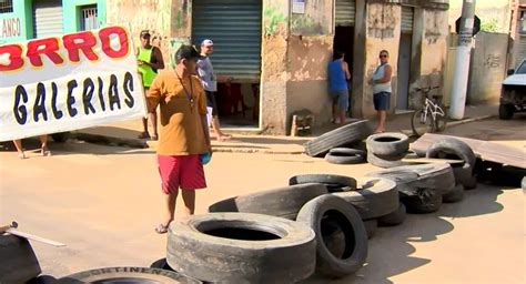
[[[380,156],[399,156],[409,150],[409,138],[395,132],[370,135],[365,143],[367,152]]]

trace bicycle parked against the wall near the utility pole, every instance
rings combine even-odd
[[[446,112],[441,106],[438,98],[441,95],[434,94],[429,99],[429,92],[439,87],[417,88],[415,91],[425,94],[425,102],[421,110],[415,111],[411,120],[411,128],[413,133],[422,136],[425,133],[441,132],[446,129]]]

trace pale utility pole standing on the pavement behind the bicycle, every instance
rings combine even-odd
[[[476,0],[464,0],[462,6],[458,45],[453,72],[452,101],[449,118],[462,120],[466,106],[467,79],[469,75],[469,59],[472,53],[473,28],[475,24]]]

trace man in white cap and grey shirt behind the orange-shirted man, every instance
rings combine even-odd
[[[201,78],[204,91],[206,92],[206,104],[212,108],[212,129],[215,132],[215,138],[219,141],[230,139],[231,135],[221,131],[220,121],[218,116],[218,103],[215,101],[215,92],[218,92],[218,80],[214,74],[214,69],[209,55],[214,51],[214,43],[212,40],[203,40],[201,43],[201,57],[198,60],[198,74]]]

